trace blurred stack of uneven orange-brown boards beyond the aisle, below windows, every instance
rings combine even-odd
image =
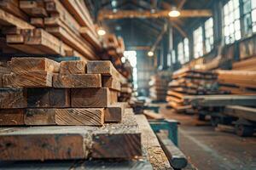
[[[186,111],[191,108],[189,102],[184,102],[187,95],[212,95],[218,91],[217,75],[212,71],[181,70],[173,73],[169,83],[166,101],[168,106],[176,111]]]

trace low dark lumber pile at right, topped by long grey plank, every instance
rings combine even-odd
[[[190,105],[198,108],[200,117],[210,116],[212,126],[224,130],[224,126],[236,126],[240,136],[252,136],[256,127],[256,95],[218,94],[186,96]],[[230,128],[229,128],[230,129]]]

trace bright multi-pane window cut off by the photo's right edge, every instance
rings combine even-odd
[[[245,34],[256,32],[256,0],[242,0]]]

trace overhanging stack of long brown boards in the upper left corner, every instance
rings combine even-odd
[[[82,0],[0,2],[3,54],[48,54],[99,59],[102,42]]]

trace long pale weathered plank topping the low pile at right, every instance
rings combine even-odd
[[[190,99],[194,106],[225,106],[225,105],[247,105],[255,106],[256,96],[254,95],[198,95],[185,96]]]

